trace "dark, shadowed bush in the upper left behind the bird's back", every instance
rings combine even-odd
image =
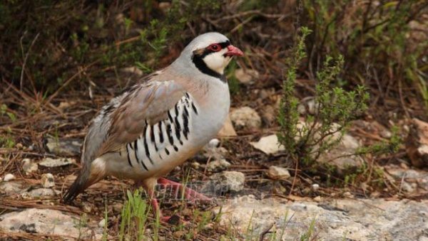
[[[49,95],[76,73],[87,87],[107,70],[138,65],[151,72],[168,46],[187,40],[186,23],[219,6],[209,0],[172,1],[165,9],[153,0],[1,1],[0,79]]]

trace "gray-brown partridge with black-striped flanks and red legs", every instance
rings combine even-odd
[[[173,63],[147,75],[104,105],[88,125],[82,168],[63,196],[64,203],[106,176],[142,186],[161,220],[157,184],[183,186],[167,175],[218,134],[230,108],[225,68],[243,51],[221,33],[203,33]],[[185,188],[187,198],[209,200]]]

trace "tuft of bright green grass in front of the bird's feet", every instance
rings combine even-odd
[[[126,194],[128,200],[125,205],[123,205],[122,209],[119,240],[142,240],[144,237],[144,230],[146,230],[150,208],[146,204],[146,200],[141,198],[141,192],[139,190],[136,190],[134,193],[126,191]],[[155,225],[155,227],[159,226]],[[157,238],[157,233],[154,236]]]

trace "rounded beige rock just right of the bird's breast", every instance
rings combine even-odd
[[[240,107],[230,112],[230,119],[236,129],[258,129],[262,125],[262,118],[258,112],[250,107]]]

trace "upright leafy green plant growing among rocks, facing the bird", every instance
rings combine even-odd
[[[346,91],[335,87],[333,81],[342,70],[344,59],[327,56],[324,68],[317,72],[315,85],[315,112],[305,114],[305,123],[299,120],[297,98],[294,96],[297,69],[306,57],[305,38],[308,28],[301,29],[297,45],[288,59],[289,68],[282,84],[282,100],[278,122],[278,141],[285,146],[288,156],[310,166],[325,151],[339,144],[352,119],[365,112],[369,95],[363,86]]]

